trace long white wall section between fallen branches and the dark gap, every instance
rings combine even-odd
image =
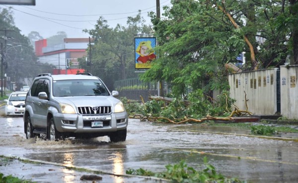
[[[254,115],[274,115],[277,112],[277,68],[242,72],[228,76],[230,97],[236,99],[235,105]]]

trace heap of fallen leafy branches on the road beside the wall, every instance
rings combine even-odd
[[[170,100],[156,98],[140,103],[128,100],[126,97],[121,98],[130,117],[150,120],[155,123],[179,123],[185,119],[191,119],[185,123],[192,123],[197,119],[205,118],[207,115],[211,118],[227,117],[226,120],[228,120],[232,111],[239,110],[233,105],[235,100],[228,97],[228,92],[222,92],[218,95],[217,100],[205,95],[199,89],[191,92],[187,96],[187,100],[172,97],[171,94],[168,95],[167,99]],[[236,115],[242,114],[236,113]]]

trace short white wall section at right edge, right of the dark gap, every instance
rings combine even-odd
[[[281,66],[281,114],[298,119],[298,65]]]

